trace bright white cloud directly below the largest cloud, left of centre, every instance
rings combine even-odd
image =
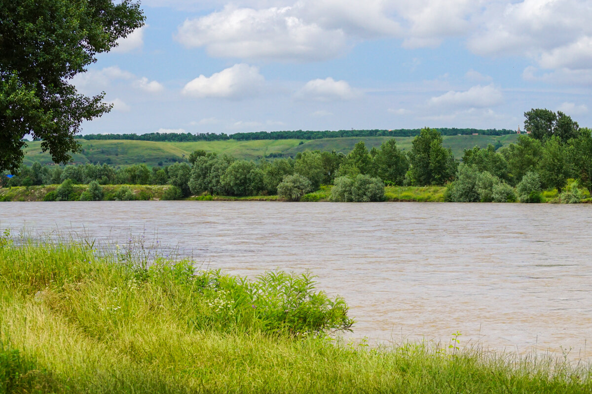
[[[200,75],[188,82],[182,93],[193,97],[221,97],[242,99],[256,96],[265,84],[265,79],[255,66],[240,63],[224,69],[211,77]]]

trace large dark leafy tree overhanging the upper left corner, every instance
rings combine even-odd
[[[111,109],[72,78],[144,24],[130,0],[23,0],[0,3],[0,171],[18,171],[24,136],[41,139],[54,162],[79,151],[83,120]]]

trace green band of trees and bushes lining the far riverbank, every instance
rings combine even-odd
[[[554,116],[552,116],[554,115]],[[543,190],[556,189],[572,202],[592,192],[592,134],[559,112],[525,113],[529,135],[496,150],[466,149],[461,161],[442,146],[442,134],[425,128],[414,138],[410,151],[395,139],[368,150],[361,141],[348,155],[342,152],[305,151],[295,158],[273,161],[240,160],[226,154],[198,150],[188,162],[166,167],[110,165],[23,167],[8,185],[73,183],[169,184],[172,197],[192,194],[256,196],[278,194],[298,201],[320,185],[334,185],[334,201],[379,201],[384,185],[448,185],[449,201],[538,202]],[[551,121],[548,121],[551,119]],[[576,184],[568,185],[574,178]],[[567,193],[567,194],[565,194]]]

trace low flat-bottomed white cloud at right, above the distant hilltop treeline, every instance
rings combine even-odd
[[[503,95],[493,84],[473,86],[465,92],[451,90],[442,96],[432,97],[429,100],[431,105],[445,108],[485,108],[502,102]]]

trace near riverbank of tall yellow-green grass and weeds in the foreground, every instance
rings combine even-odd
[[[0,237],[0,392],[592,389],[590,366],[562,360],[330,340],[318,333],[348,327],[347,307],[303,276],[249,282],[162,259],[146,268],[134,250],[101,257],[90,246]]]

